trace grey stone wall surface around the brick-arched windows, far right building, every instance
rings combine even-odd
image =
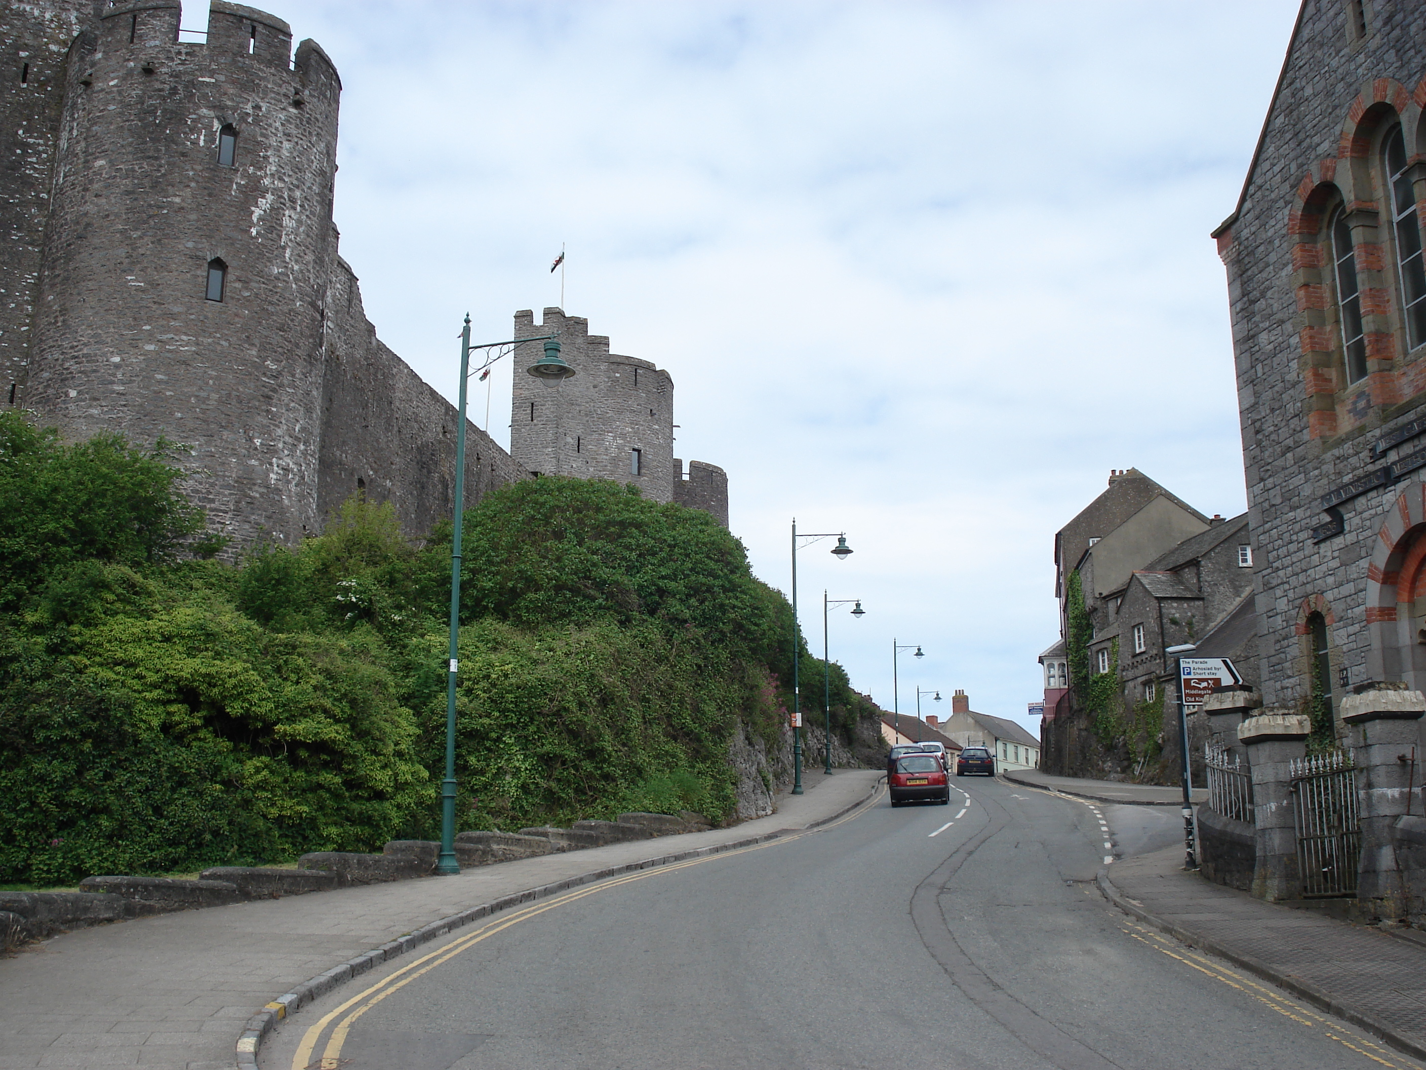
[[[1368,598],[1383,575],[1372,575],[1370,558],[1399,496],[1420,491],[1420,469],[1406,464],[1373,475],[1423,442],[1382,455],[1373,445],[1426,415],[1426,347],[1412,351],[1402,331],[1386,194],[1373,171],[1390,123],[1402,121],[1409,153],[1423,151],[1426,11],[1405,0],[1365,10],[1363,36],[1352,4],[1302,6],[1242,203],[1216,233],[1232,305],[1266,706],[1292,706],[1310,689],[1310,612],[1329,625],[1338,700],[1343,679],[1350,686],[1383,671],[1372,663]],[[1417,167],[1419,205],[1423,178]],[[1325,254],[1326,214],[1343,201],[1366,312],[1370,374],[1360,384],[1346,382]],[[1366,489],[1353,494],[1359,481]],[[1333,515],[1325,498],[1336,492],[1346,496]]]

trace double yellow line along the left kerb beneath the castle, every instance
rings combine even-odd
[[[382,977],[371,987],[352,996],[349,1000],[342,1003],[335,1010],[324,1014],[321,1019],[312,1023],[311,1027],[308,1027],[307,1033],[302,1034],[302,1043],[298,1044],[297,1053],[292,1056],[292,1070],[308,1070],[308,1067],[312,1066],[312,1053],[317,1051],[318,1041],[322,1039],[322,1034],[327,1031],[328,1026],[331,1026],[334,1021],[337,1021],[337,1026],[335,1029],[332,1029],[331,1036],[327,1037],[327,1046],[322,1049],[321,1070],[337,1070],[342,1054],[342,1044],[347,1043],[347,1034],[351,1031],[352,1023],[356,1021],[356,1019],[359,1019],[362,1014],[375,1007],[388,996],[411,984],[411,982],[425,976],[438,966],[451,962],[451,959],[461,954],[462,952],[469,950],[471,947],[475,947],[478,943],[482,943],[485,940],[489,940],[492,936],[503,933],[511,926],[519,924],[520,922],[526,922],[530,917],[538,917],[539,914],[543,914],[546,910],[553,910],[555,907],[568,906],[569,903],[579,902],[586,896],[593,896],[600,892],[607,892],[609,889],[613,887],[622,887],[623,885],[632,885],[635,880],[646,880],[647,877],[659,876],[663,873],[672,873],[680,869],[687,869],[689,866],[699,866],[704,862],[713,862],[714,859],[726,859],[734,855],[747,855],[754,850],[763,850],[764,847],[777,847],[783,843],[791,843],[793,840],[800,840],[803,836],[810,836],[817,832],[826,832],[827,829],[834,829],[838,825],[846,825],[847,822],[860,817],[863,813],[866,813],[881,798],[881,793],[884,790],[886,790],[884,788],[878,788],[876,793],[871,796],[871,799],[867,800],[866,806],[858,806],[846,817],[834,820],[830,825],[823,825],[819,829],[809,829],[806,832],[799,832],[794,836],[783,836],[776,840],[769,840],[767,843],[754,843],[747,847],[724,850],[717,855],[704,855],[703,857],[699,859],[687,859],[686,862],[673,862],[667,866],[646,869],[639,873],[630,873],[629,876],[625,877],[613,877],[612,880],[602,880],[596,885],[589,885],[588,887],[580,887],[573,892],[568,892],[562,896],[549,899],[543,903],[523,907],[520,910],[516,910],[513,914],[502,913],[498,919],[481,926],[473,933],[468,933],[466,936],[462,936],[459,940],[455,940],[453,943],[449,943],[439,950],[429,952],[428,954],[421,956],[415,962],[401,967],[395,973]],[[341,1020],[338,1021],[338,1019]]]

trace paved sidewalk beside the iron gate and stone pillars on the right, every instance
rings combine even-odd
[[[1184,869],[1182,847],[1107,866],[1099,887],[1154,927],[1426,1057],[1426,947],[1416,942],[1214,885]]]

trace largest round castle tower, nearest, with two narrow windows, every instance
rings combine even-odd
[[[237,542],[317,529],[341,81],[271,14],[103,6],[66,63],[23,401],[74,438],[191,447]]]

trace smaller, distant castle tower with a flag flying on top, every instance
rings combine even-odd
[[[673,379],[649,361],[609,352],[589,321],[545,310],[515,314],[515,337],[559,332],[560,357],[575,375],[558,388],[525,374],[539,357],[522,345],[515,358],[511,455],[540,475],[578,475],[635,484],[645,498],[672,502],[680,472],[673,459]],[[724,519],[726,524],[726,519]]]

